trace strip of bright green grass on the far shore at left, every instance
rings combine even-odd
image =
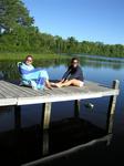
[[[0,61],[4,60],[24,60],[29,53],[0,53]],[[50,53],[30,53],[34,60],[53,60],[53,59],[70,59],[68,55],[50,54]]]

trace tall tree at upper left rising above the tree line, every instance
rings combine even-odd
[[[17,28],[30,27],[33,18],[21,0],[0,0],[0,33],[10,32]]]

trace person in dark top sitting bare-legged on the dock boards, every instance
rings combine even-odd
[[[78,58],[71,60],[71,65],[68,71],[64,73],[62,80],[59,83],[55,83],[55,85],[58,87],[70,85],[82,87],[84,85],[83,71]]]

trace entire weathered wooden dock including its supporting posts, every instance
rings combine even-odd
[[[48,154],[48,129],[50,126],[51,104],[53,102],[75,101],[75,117],[79,117],[80,101],[86,98],[97,98],[110,96],[107,118],[106,118],[106,133],[112,134],[113,116],[115,113],[116,97],[120,94],[120,82],[113,81],[113,86],[85,81],[83,87],[61,87],[53,90],[32,90],[30,87],[19,86],[6,81],[0,81],[0,106],[12,105],[16,107],[16,127],[21,126],[20,105],[41,104],[43,103],[42,111],[42,126],[43,126],[43,154]],[[106,138],[110,143],[110,139]],[[46,142],[46,143],[45,143]]]

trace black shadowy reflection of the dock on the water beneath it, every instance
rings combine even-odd
[[[19,111],[19,107],[17,108]],[[111,135],[104,137],[107,134],[106,129],[80,117],[51,122],[50,128],[43,131],[42,121],[41,124],[22,127],[20,113],[19,111],[18,114],[13,114],[14,128],[0,133],[0,162],[4,160],[4,165],[11,163],[18,166],[78,145],[78,149],[82,149],[89,146],[82,144],[92,139],[106,143],[110,141]],[[99,139],[101,137],[102,139]]]

